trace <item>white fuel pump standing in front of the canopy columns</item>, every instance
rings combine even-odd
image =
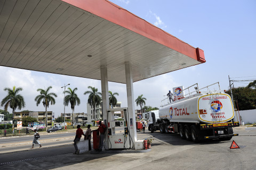
[[[129,135],[129,128],[127,125],[127,111],[128,108],[108,109],[108,140],[109,149],[130,149],[131,140]],[[115,112],[124,111],[124,120],[115,120]],[[116,133],[116,128],[122,129],[121,132]],[[119,128],[121,127],[121,128]]]

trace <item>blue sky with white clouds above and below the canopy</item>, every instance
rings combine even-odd
[[[221,90],[228,90],[228,75],[232,80],[256,79],[256,1],[171,1],[171,0],[111,0],[118,6],[154,24],[167,33],[204,51],[206,62],[197,66],[169,72],[133,83],[134,100],[143,94],[146,106],[160,107],[173,87],[185,88],[198,83],[199,88],[219,82]],[[44,111],[43,104],[34,101],[38,88],[52,86],[58,95],[55,105],[49,106],[56,116],[64,110],[63,88],[77,87],[81,104],[75,112],[86,113],[88,86],[101,92],[100,80],[71,77],[44,72],[14,69],[0,66],[0,100],[6,96],[5,87],[22,87],[25,98],[22,110]],[[234,87],[250,82],[235,82]],[[119,93],[121,107],[127,107],[126,85],[109,82],[109,91]],[[216,87],[214,87],[216,88]],[[134,102],[135,109],[140,109]],[[4,109],[0,107],[0,109]],[[9,108],[9,112],[12,110]],[[20,111],[20,110],[16,110]],[[66,113],[71,112],[70,104]]]

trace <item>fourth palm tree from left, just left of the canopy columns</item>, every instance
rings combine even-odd
[[[88,88],[91,90],[91,91],[86,91],[84,92],[84,95],[86,94],[89,94],[89,97],[88,97],[88,103],[93,106],[93,119],[94,119],[94,122],[93,122],[93,126],[95,125],[95,121],[96,121],[96,117],[95,117],[95,107],[97,105],[100,104],[100,101],[101,101],[101,93],[98,92],[98,88],[95,88],[95,87],[92,87],[92,86],[88,86]]]

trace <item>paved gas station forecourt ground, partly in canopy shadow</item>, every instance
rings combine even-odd
[[[232,140],[193,143],[181,140],[179,134],[151,134],[146,131],[145,134],[138,132],[138,139],[154,137],[152,149],[147,153],[85,152],[73,155],[73,145],[66,145],[0,154],[0,160],[3,159],[4,162],[23,160],[0,164],[0,169],[90,169],[97,165],[104,169],[255,169],[256,131],[237,128],[235,133],[239,136],[233,137],[232,140],[235,140],[241,149],[230,150]],[[38,157],[35,157],[35,154]],[[19,155],[22,157],[17,158]]]

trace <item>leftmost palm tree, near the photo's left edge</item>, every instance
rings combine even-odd
[[[20,91],[22,91],[22,87],[15,88],[4,88],[4,91],[7,91],[7,95],[1,102],[1,107],[4,106],[4,110],[7,111],[8,106],[12,109],[12,120],[14,120],[14,111],[18,108],[21,110],[25,107],[25,101],[22,95],[18,94]],[[14,129],[14,123],[12,124],[12,129]],[[14,134],[14,131],[13,131]]]

